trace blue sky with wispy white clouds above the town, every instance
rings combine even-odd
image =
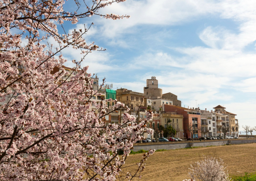
[[[65,27],[94,22],[85,39],[107,51],[91,53],[83,65],[114,89],[143,92],[146,79],[155,76],[163,93],[178,95],[182,106],[196,107],[195,100],[201,109],[224,105],[242,130],[256,125],[255,7],[256,1],[127,0],[101,13],[129,19],[93,16]],[[63,53],[67,66],[81,57],[71,48]]]

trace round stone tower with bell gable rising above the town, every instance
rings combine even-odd
[[[158,80],[155,77],[147,79],[147,86],[144,87],[144,96],[148,99],[162,98],[162,89],[158,89]]]

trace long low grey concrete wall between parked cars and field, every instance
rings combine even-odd
[[[256,143],[256,139],[235,139],[235,140],[223,140],[223,141],[194,141],[194,142],[175,142],[175,143],[157,143],[157,144],[135,144],[133,145],[133,151],[139,150],[172,150],[181,149],[187,147],[207,147],[207,146],[222,146],[225,144],[245,144]]]

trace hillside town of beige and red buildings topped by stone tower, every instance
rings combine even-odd
[[[64,67],[66,71],[72,75],[67,74],[65,77],[70,80],[72,76],[76,75],[76,70]],[[55,68],[52,73],[59,71]],[[65,78],[64,77],[64,78]],[[64,79],[63,78],[63,79]],[[93,96],[91,101],[96,100],[100,102],[104,99],[112,99],[112,102],[108,102],[109,111],[114,106],[114,100],[124,103],[131,109],[131,114],[136,116],[136,118],[146,118],[146,111],[152,110],[153,119],[148,124],[149,128],[155,128],[158,137],[160,136],[159,127],[163,126],[166,128],[171,125],[176,133],[174,137],[178,137],[182,140],[188,140],[192,138],[192,134],[189,131],[188,125],[192,125],[196,128],[206,128],[209,130],[204,137],[208,136],[224,136],[221,130],[218,130],[218,126],[222,125],[228,127],[229,130],[226,132],[226,136],[239,136],[238,132],[238,120],[235,118],[236,114],[226,111],[226,108],[217,105],[213,107],[212,110],[197,108],[185,108],[181,106],[181,100],[178,100],[178,96],[168,92],[162,93],[162,89],[158,88],[158,80],[155,76],[150,79],[146,79],[146,84],[144,87],[144,92],[135,92],[133,90],[128,90],[126,88],[120,88],[117,90],[111,89],[112,85],[106,85],[100,88],[99,77],[93,78],[93,89],[98,90],[101,93],[100,96]],[[92,110],[95,109],[95,105],[92,104]],[[117,112],[111,112],[109,115],[105,116],[103,120],[106,123],[122,123],[122,115],[125,111],[118,110]],[[139,113],[139,114],[137,114]],[[156,134],[156,133],[155,133]],[[144,134],[146,138],[152,138],[151,134]],[[193,138],[203,137],[200,131],[193,133]]]

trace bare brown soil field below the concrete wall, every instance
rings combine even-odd
[[[245,172],[256,172],[256,143],[236,144],[217,147],[200,147],[155,152],[147,160],[146,169],[142,172],[141,181],[180,181],[188,179],[190,163],[200,161],[204,155],[217,154],[224,160],[229,176],[243,176]],[[138,163],[142,154],[130,155],[126,166]],[[134,170],[135,167],[128,167]]]

